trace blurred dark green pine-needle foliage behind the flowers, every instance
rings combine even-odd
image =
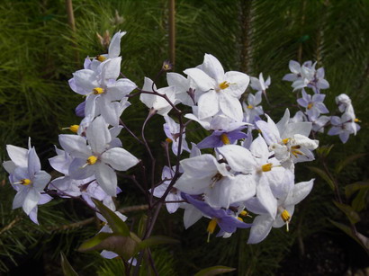
[[[69,89],[67,80],[83,67],[86,56],[106,52],[97,34],[103,36],[108,31],[112,36],[116,31],[127,31],[121,40],[121,70],[139,86],[144,76],[155,77],[169,58],[168,1],[74,0],[73,8],[76,31],[67,23],[65,1],[3,0],[0,5],[2,160],[8,158],[6,144],[27,147],[31,137],[50,171],[46,160],[53,155],[52,145],[58,145],[61,128],[79,122],[74,109],[84,100]],[[347,93],[356,117],[362,120],[362,129],[345,145],[338,137],[319,138],[322,146],[336,144],[328,157],[329,167],[334,168],[347,156],[368,153],[368,19],[367,0],[177,0],[175,72],[201,64],[204,53],[210,53],[220,59],[226,71],[271,76],[269,100],[287,107],[296,99],[291,83],[282,81],[289,72],[289,60],[318,61],[318,67],[325,67],[330,84],[324,91],[329,110],[337,110],[335,96]],[[160,82],[165,85],[165,79]],[[139,133],[146,107],[133,102],[137,104],[124,112],[123,120]],[[266,104],[264,109],[275,120],[284,113],[284,108],[274,110]],[[156,118],[148,128],[161,128],[163,122]],[[159,143],[163,138],[148,130],[148,140],[158,145],[154,146],[158,155],[162,155]],[[122,140],[123,147],[142,156],[143,149],[135,147],[124,133]],[[336,175],[344,198],[347,184],[368,182],[368,163],[369,156],[362,156]],[[321,166],[319,162],[309,165]],[[120,273],[117,260],[76,252],[98,226],[63,227],[93,217],[89,210],[70,200],[53,200],[40,207],[40,227],[35,226],[22,210],[12,210],[14,191],[4,171],[0,175],[0,274],[61,275],[61,250],[80,275]],[[163,210],[156,232],[180,239],[181,245],[153,251],[160,275],[190,275],[217,264],[237,268],[235,275],[343,274],[368,267],[362,247],[329,221],[348,225],[345,214],[333,204],[329,185],[306,165],[297,165],[296,175],[297,182],[316,178],[311,195],[298,206],[289,233],[284,228],[274,229],[260,245],[246,244],[247,230],[229,239],[212,238],[207,244],[206,222],[184,230],[181,211],[168,215]],[[121,187],[120,206],[144,203],[130,183]],[[356,227],[365,236],[369,235],[367,191],[344,199],[348,205],[356,204],[361,218]],[[131,195],[135,193],[137,197]],[[128,216],[130,223],[137,225],[141,213]]]

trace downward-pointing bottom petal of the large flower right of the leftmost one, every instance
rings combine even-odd
[[[117,194],[117,174],[108,165],[97,164],[96,181],[108,195],[113,197]]]

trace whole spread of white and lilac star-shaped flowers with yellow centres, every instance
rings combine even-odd
[[[341,94],[336,99],[343,112],[340,118],[322,115],[329,113],[323,103],[325,95],[320,93],[329,88],[324,69],[315,69],[316,63],[300,66],[291,61],[292,74],[284,80],[293,82],[293,90],[302,90],[298,103],[303,109],[293,118],[286,109],[284,117],[275,123],[260,105],[271,85],[270,76],[265,81],[262,73],[256,78],[237,71],[225,72],[210,54],[205,54],[201,65],[184,70],[185,76],[166,73],[166,87],[157,88],[155,81],[145,77],[139,88],[121,74],[120,43],[124,34],[120,31],[113,36],[108,54],[85,58],[84,68],[69,80],[70,88],[84,95],[85,102],[76,107],[76,114],[83,117],[81,122],[67,128],[74,134],[59,135],[62,149],[56,147],[57,156],[49,159],[62,176],[50,182],[50,175],[40,170],[39,157],[31,145],[29,149],[7,146],[11,161],[4,162],[4,168],[17,191],[13,207],[22,206],[36,223],[38,205],[51,200],[50,195],[83,200],[94,210],[93,199],[100,200],[116,211],[112,197],[121,191],[116,172],[126,172],[140,162],[122,147],[118,138],[121,129],[146,148],[154,170],[155,157],[144,130],[148,120],[158,114],[164,123],[167,165],[159,182],[155,181],[155,171],[151,172],[151,189],[147,183],[136,182],[149,208],[160,208],[165,202],[170,213],[184,209],[184,227],[208,218],[209,235],[217,226],[218,236],[223,237],[231,236],[238,228],[250,228],[250,244],[265,239],[272,227],[286,225],[288,230],[294,206],[310,193],[314,182],[295,183],[295,164],[314,160],[313,150],[319,146],[318,140],[310,138],[311,132],[322,132],[330,124],[329,135],[339,135],[345,143],[349,134],[359,129],[348,96]],[[169,67],[165,64],[158,76]],[[248,93],[247,102],[241,102],[249,83],[257,93]],[[307,88],[312,89],[312,96],[306,93]],[[137,93],[131,93],[134,90]],[[148,107],[140,138],[121,120],[130,106],[130,97],[135,95]],[[183,107],[189,111],[179,110]],[[191,131],[187,130],[190,123],[198,123],[209,134],[197,145],[192,141],[191,148],[185,136]],[[206,154],[202,152],[205,148]],[[176,160],[174,165],[171,160]],[[144,165],[146,161],[141,162]],[[106,222],[101,213],[97,216]],[[155,223],[156,218],[150,219]],[[101,231],[109,233],[112,229],[105,226]],[[103,255],[115,256],[109,251]]]

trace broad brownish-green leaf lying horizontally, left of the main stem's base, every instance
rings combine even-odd
[[[138,242],[130,236],[121,236],[115,233],[99,233],[86,240],[79,246],[78,251],[108,250],[128,260],[138,252],[138,245]]]

